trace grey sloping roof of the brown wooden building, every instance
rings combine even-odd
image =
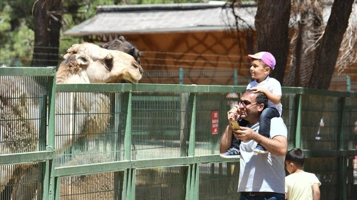
[[[98,6],[94,17],[64,32],[68,36],[100,34],[221,31],[234,24],[224,1],[207,3]],[[246,25],[254,26],[257,8],[248,3],[237,8]]]

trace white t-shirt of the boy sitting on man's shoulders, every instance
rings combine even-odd
[[[250,82],[247,85],[247,90],[251,89],[252,87],[262,87],[262,88],[267,89],[273,95],[280,96],[280,97],[282,95],[280,82],[270,76],[268,76],[264,81],[262,81],[260,83],[258,83],[256,80],[253,80],[252,82]],[[283,106],[282,106],[281,102],[279,102],[279,104],[275,104],[275,103],[271,102],[270,100],[268,100],[268,108],[271,108],[271,107],[276,108],[281,116],[281,113],[283,110]]]

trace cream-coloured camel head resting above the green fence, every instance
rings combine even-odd
[[[67,52],[57,72],[59,83],[79,83],[80,79],[80,83],[112,83],[120,80],[138,83],[142,78],[137,61],[122,51],[83,43],[72,45]],[[86,78],[89,82],[83,81]]]

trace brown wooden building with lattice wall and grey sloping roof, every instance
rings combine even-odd
[[[257,7],[247,3],[236,8],[246,23],[241,31],[226,8],[223,1],[99,6],[94,17],[64,35],[96,44],[124,36],[144,53],[141,83],[246,85],[247,54],[255,45],[255,34],[247,35],[246,27],[254,31]],[[357,82],[357,70],[351,73]],[[330,89],[345,88],[346,75],[333,75]]]

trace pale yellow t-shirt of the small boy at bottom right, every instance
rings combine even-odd
[[[285,193],[288,200],[313,200],[312,185],[321,182],[316,175],[299,172],[285,177]]]

